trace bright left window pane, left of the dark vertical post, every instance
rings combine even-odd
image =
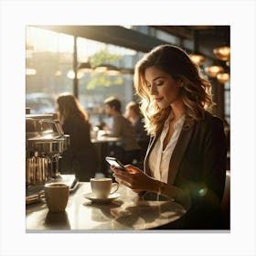
[[[72,91],[73,38],[27,27],[26,106],[31,113],[55,112],[55,96]]]

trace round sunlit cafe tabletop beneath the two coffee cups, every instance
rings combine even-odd
[[[27,232],[154,229],[186,213],[174,201],[143,200],[123,185],[111,198],[99,202],[88,199],[90,193],[90,182],[79,183],[70,192],[67,208],[62,213],[49,212],[41,202],[27,205]]]

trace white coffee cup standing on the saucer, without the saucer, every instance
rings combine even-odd
[[[107,198],[119,188],[119,184],[112,183],[112,178],[109,177],[94,177],[90,182],[91,191],[97,198]]]

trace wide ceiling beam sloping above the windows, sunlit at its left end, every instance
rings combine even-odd
[[[85,37],[92,40],[113,44],[124,48],[147,52],[157,45],[165,44],[164,40],[146,36],[142,33],[120,26],[34,26],[49,29],[74,37]]]

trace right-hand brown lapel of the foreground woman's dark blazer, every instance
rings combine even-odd
[[[168,184],[174,184],[178,166],[179,166],[180,161],[187,149],[187,144],[189,142],[192,132],[193,132],[193,126],[187,130],[182,130],[179,135],[179,138],[176,142],[176,147],[174,149],[173,155],[170,160],[169,173],[168,173]]]

